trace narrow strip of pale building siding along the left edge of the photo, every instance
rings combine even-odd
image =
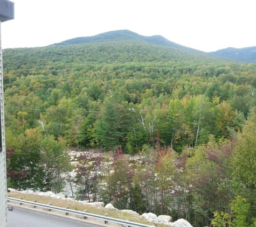
[[[0,227],[7,226],[7,186],[6,186],[6,162],[4,140],[4,98],[3,98],[3,64],[1,45],[1,21],[0,21],[0,128],[2,139],[2,152],[0,153]]]

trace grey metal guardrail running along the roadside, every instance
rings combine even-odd
[[[125,220],[117,219],[117,218],[113,218],[113,217],[95,215],[95,214],[91,214],[91,213],[88,213],[85,211],[78,211],[78,210],[71,210],[71,209],[67,209],[67,208],[54,207],[53,205],[47,205],[47,204],[42,204],[42,203],[21,200],[19,198],[7,197],[7,200],[12,201],[12,202],[18,202],[20,204],[33,205],[33,207],[41,207],[41,208],[45,208],[45,209],[49,209],[49,210],[66,212],[66,214],[80,215],[85,218],[90,217],[90,218],[105,221],[105,223],[113,222],[116,224],[126,225],[128,227],[152,227],[152,226],[154,226],[154,225],[146,225],[146,224],[141,224],[141,223],[136,223],[136,222],[125,221]]]

